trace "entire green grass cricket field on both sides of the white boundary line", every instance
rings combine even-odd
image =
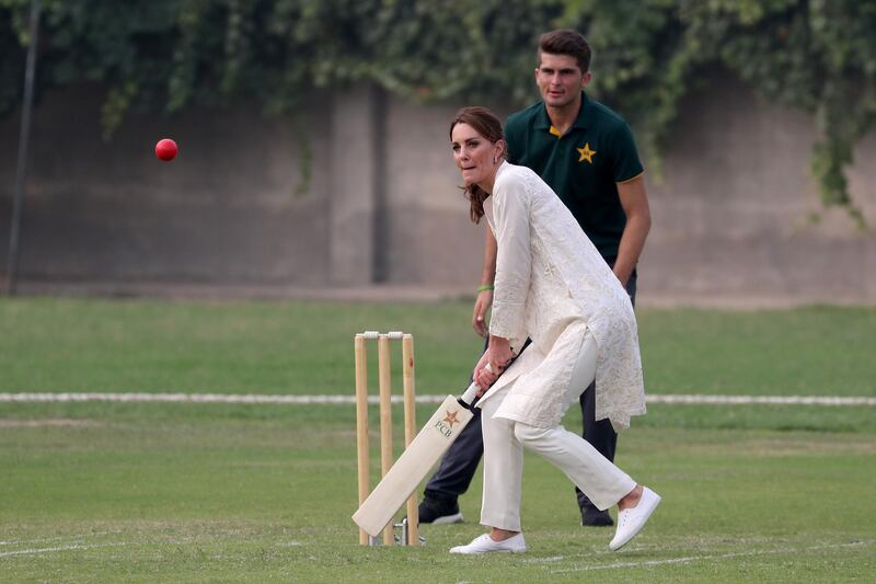
[[[351,334],[392,328],[415,334],[418,392],[447,393],[480,346],[469,318],[466,301],[3,299],[0,392],[350,394]],[[649,393],[876,397],[876,309],[639,310],[639,323]],[[418,408],[420,422],[433,408]],[[447,553],[482,530],[480,477],[461,499],[466,522],[424,526],[425,547],[359,547],[354,419],[346,405],[0,402],[0,581],[876,573],[873,406],[650,405],[616,460],[664,495],[647,529],[610,552],[612,530],[577,525],[566,479],[528,457],[530,551],[500,558]],[[395,428],[401,445],[400,419]]]

